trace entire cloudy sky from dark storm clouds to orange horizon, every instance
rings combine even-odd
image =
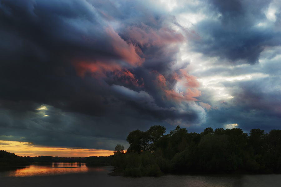
[[[0,0],[0,149],[107,156],[153,125],[279,129],[280,64],[277,0]]]

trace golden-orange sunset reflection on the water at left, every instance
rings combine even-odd
[[[83,163],[34,163],[27,167],[18,168],[4,173],[5,177],[30,177],[46,175],[62,175],[70,173],[88,172],[89,170],[101,171],[103,167],[87,167]]]

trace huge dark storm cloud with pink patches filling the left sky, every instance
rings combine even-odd
[[[155,71],[169,78],[165,89],[176,84],[170,44],[188,31],[172,29],[175,17],[138,2],[0,5],[2,139],[113,149],[135,128],[202,120],[204,110],[167,101],[151,80]]]

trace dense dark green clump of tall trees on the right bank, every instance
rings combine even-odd
[[[129,133],[130,147],[117,145],[112,160],[116,171],[145,176],[161,173],[281,173],[281,130],[239,128],[188,133],[177,126],[152,126],[146,132]]]

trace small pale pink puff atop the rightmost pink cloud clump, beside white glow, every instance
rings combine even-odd
[[[197,88],[200,86],[199,82],[196,80],[197,77],[188,74],[187,71],[183,69],[180,69],[180,73],[180,75],[176,73],[174,79],[176,79],[185,87]]]

